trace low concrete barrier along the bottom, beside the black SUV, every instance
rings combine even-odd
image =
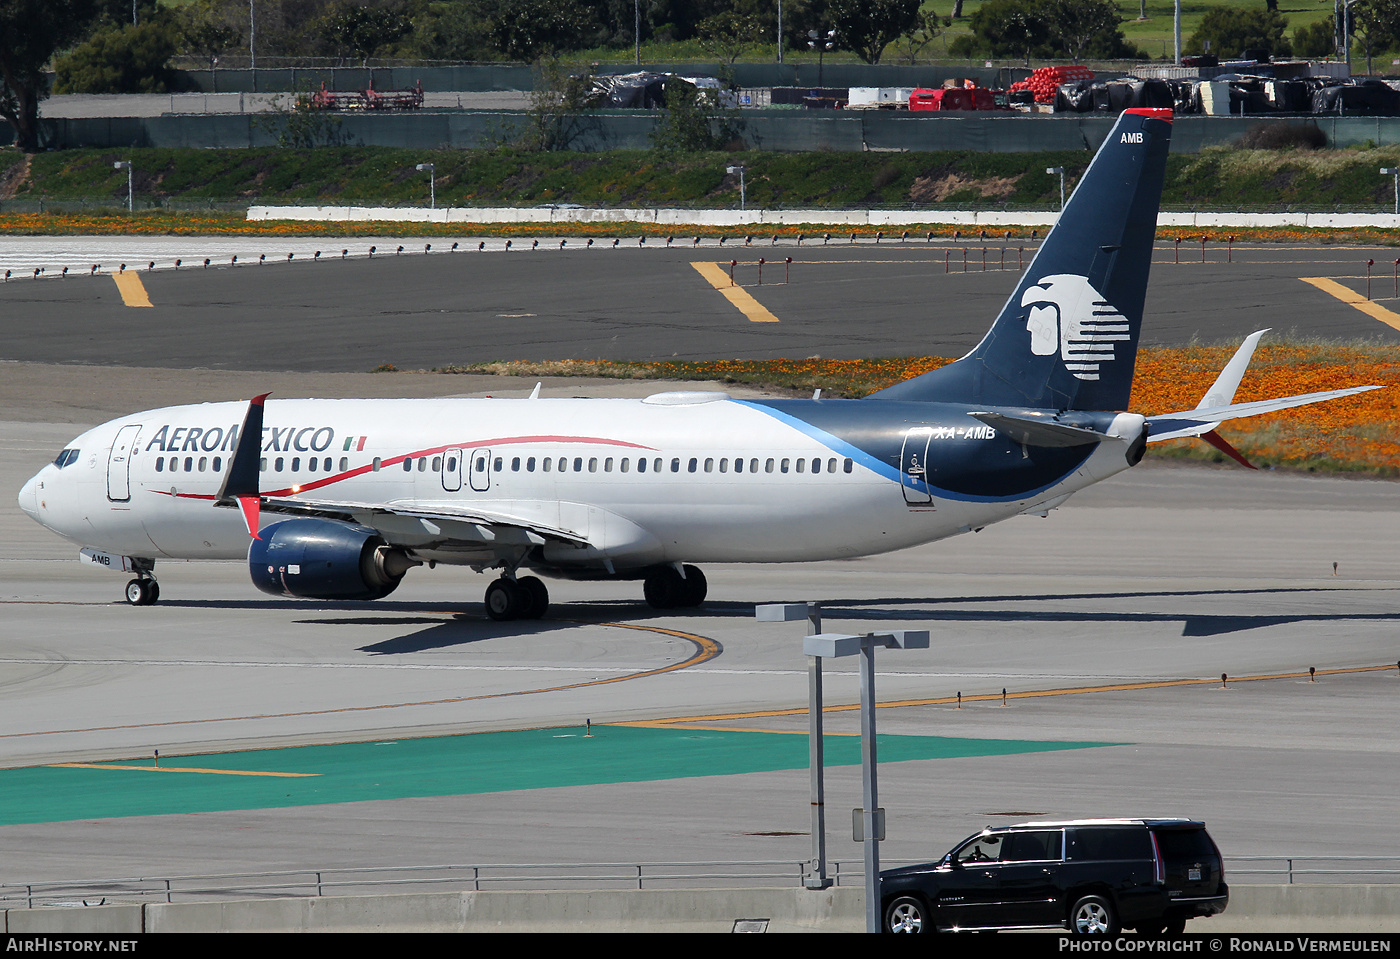
[[[864,892],[570,889],[11,909],[8,932],[860,932]],[[1400,932],[1400,885],[1232,886],[1191,932]]]

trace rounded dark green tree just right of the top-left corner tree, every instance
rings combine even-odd
[[[176,31],[168,17],[99,29],[53,62],[56,94],[162,94],[175,71]]]

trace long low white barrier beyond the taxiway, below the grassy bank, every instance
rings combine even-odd
[[[918,224],[984,227],[1051,227],[1058,214],[1049,210],[678,210],[678,209],[554,209],[554,207],[346,207],[253,206],[249,220],[316,220],[336,223],[374,220],[386,223],[650,223],[658,227],[914,227]],[[1392,213],[1162,213],[1158,227],[1376,227],[1400,228]]]

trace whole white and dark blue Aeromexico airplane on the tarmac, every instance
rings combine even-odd
[[[641,580],[696,606],[696,563],[864,556],[1044,514],[1134,466],[1147,442],[1347,396],[1232,405],[1263,332],[1189,412],[1124,413],[1172,112],[1130,109],[981,343],[861,400],[399,399],[204,403],[77,437],[20,507],[134,573],[244,559],[269,594],[378,599],[409,568],[500,570],[493,619],[545,615],[533,571]],[[1247,463],[1246,463],[1247,465]]]

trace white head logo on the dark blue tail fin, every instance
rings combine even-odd
[[[1098,379],[1099,364],[1113,361],[1113,344],[1130,339],[1127,316],[1109,304],[1089,280],[1072,273],[1043,277],[1021,297],[1030,333],[1030,351],[1058,350],[1077,379]]]

